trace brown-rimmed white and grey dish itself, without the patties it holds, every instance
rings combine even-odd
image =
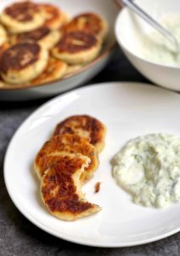
[[[70,90],[84,84],[87,80],[92,79],[97,73],[99,73],[107,62],[110,60],[115,46],[115,34],[114,25],[115,19],[118,15],[119,8],[114,1],[106,0],[33,0],[37,3],[52,3],[59,8],[65,10],[66,13],[71,16],[75,16],[82,12],[95,12],[99,15],[103,15],[108,21],[110,32],[108,38],[104,44],[104,48],[98,57],[83,67],[76,74],[70,74],[65,79],[56,80],[53,83],[41,84],[41,85],[29,85],[29,86],[12,86],[0,88],[0,100],[2,101],[26,101],[31,99],[37,99],[41,97],[54,96],[65,90]],[[9,4],[14,3],[14,0],[1,0],[0,12]]]

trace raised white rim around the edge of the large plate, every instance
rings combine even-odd
[[[145,86],[149,86],[149,87],[154,87],[155,89],[157,90],[165,90],[167,91],[168,93],[172,94],[172,95],[176,95],[176,96],[179,96],[177,92],[174,92],[172,90],[166,90],[164,88],[160,88],[158,86],[155,86],[155,84],[150,84],[150,83],[141,83],[141,82],[128,82],[128,81],[112,81],[112,82],[104,82],[104,83],[99,83],[99,84],[87,84],[87,86],[83,86],[83,87],[80,87],[80,88],[76,88],[74,90],[70,90],[70,91],[67,91],[65,93],[62,93],[60,94],[59,96],[55,96],[53,97],[52,99],[48,100],[47,102],[44,102],[42,105],[40,105],[36,110],[34,110],[30,115],[28,115],[24,121],[21,123],[21,125],[17,128],[16,131],[14,131],[14,134],[13,134],[13,137],[11,137],[9,143],[8,143],[8,147],[6,149],[6,152],[5,152],[5,156],[4,156],[4,160],[3,160],[3,178],[4,178],[4,183],[5,183],[5,186],[6,186],[6,189],[8,191],[8,195],[10,197],[10,199],[13,201],[14,203],[14,206],[20,211],[20,213],[25,216],[25,218],[27,218],[31,224],[35,224],[38,228],[40,228],[41,230],[43,231],[46,231],[48,234],[50,235],[53,235],[59,239],[62,239],[62,240],[65,240],[65,241],[70,241],[70,242],[73,242],[73,243],[76,243],[76,244],[80,244],[80,245],[83,245],[83,246],[90,246],[90,247],[134,247],[134,246],[138,246],[138,245],[143,245],[143,244],[147,244],[149,242],[153,242],[153,241],[159,241],[163,238],[166,238],[168,236],[172,236],[174,234],[176,234],[178,231],[180,231],[180,226],[177,227],[176,229],[174,230],[171,230],[171,231],[168,231],[162,235],[159,235],[159,236],[154,236],[154,237],[151,237],[149,239],[143,239],[141,241],[129,241],[129,242],[106,242],[106,244],[101,243],[101,242],[92,242],[92,241],[83,241],[82,238],[72,238],[70,237],[69,235],[66,235],[65,234],[56,234],[55,232],[53,232],[52,230],[49,230],[45,225],[39,223],[35,218],[33,218],[31,216],[31,214],[29,214],[29,212],[26,212],[24,207],[20,207],[20,204],[18,203],[18,201],[15,199],[15,196],[13,195],[11,189],[8,187],[8,179],[7,179],[7,163],[8,163],[8,154],[10,154],[9,152],[11,152],[11,147],[14,143],[14,140],[17,136],[17,134],[20,132],[20,130],[23,128],[23,126],[25,125],[26,122],[29,121],[29,119],[31,119],[31,117],[33,115],[36,115],[38,112],[41,112],[42,108],[45,108],[46,106],[48,106],[48,104],[51,104],[52,102],[56,101],[57,99],[59,98],[62,98],[62,97],[65,97],[67,95],[70,95],[71,93],[74,93],[74,92],[78,92],[78,91],[81,91],[81,90],[88,90],[90,88],[94,88],[94,87],[103,87],[103,86],[111,86],[112,84],[114,85],[117,85],[117,84],[121,84],[121,85],[124,85],[126,86],[127,84],[129,85],[145,85]],[[127,85],[128,86],[128,85]]]

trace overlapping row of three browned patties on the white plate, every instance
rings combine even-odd
[[[65,119],[38,152],[34,166],[41,180],[42,201],[56,217],[76,220],[101,208],[86,200],[82,184],[98,168],[105,126],[87,115]]]

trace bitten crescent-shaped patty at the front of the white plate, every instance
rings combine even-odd
[[[42,201],[58,218],[76,220],[98,212],[100,207],[86,201],[80,177],[89,164],[86,156],[68,154],[59,157],[42,177]]]

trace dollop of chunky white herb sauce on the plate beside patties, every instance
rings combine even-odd
[[[144,207],[180,201],[180,137],[149,134],[130,140],[112,160],[116,182]]]

